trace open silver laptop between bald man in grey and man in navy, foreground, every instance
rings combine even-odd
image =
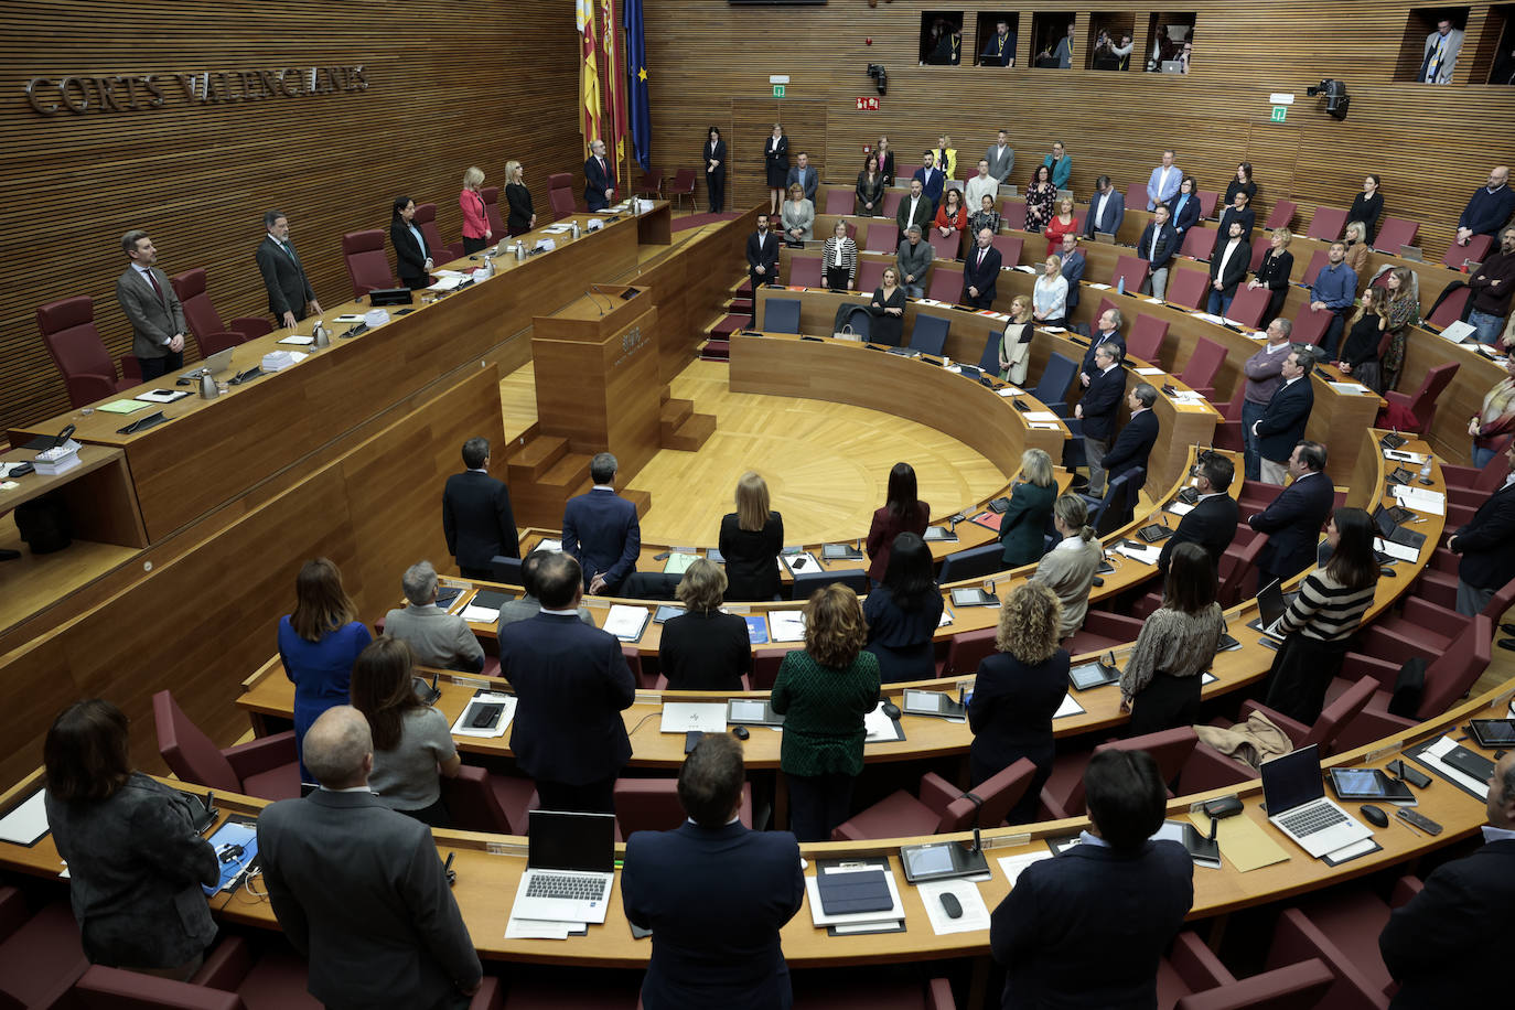
[[[530,810],[512,919],[604,922],[615,883],[615,815]]]

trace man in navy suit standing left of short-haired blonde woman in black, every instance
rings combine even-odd
[[[568,554],[536,566],[542,609],[500,628],[500,675],[520,707],[511,750],[545,810],[615,812],[615,777],[632,759],[621,710],[636,681],[614,634],[579,621],[583,577]]]

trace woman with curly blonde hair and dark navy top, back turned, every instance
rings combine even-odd
[[[1051,589],[1021,583],[1000,607],[995,653],[974,675],[968,781],[977,786],[1023,757],[1036,765],[1036,777],[1011,810],[1011,824],[1036,819],[1041,787],[1056,757],[1051,718],[1068,694],[1068,650],[1057,645],[1060,621],[1062,606]]]

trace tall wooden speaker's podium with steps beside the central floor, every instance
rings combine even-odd
[[[591,285],[532,320],[541,433],[574,453],[615,453],[621,485],[661,448],[656,321],[648,289],[627,285]]]

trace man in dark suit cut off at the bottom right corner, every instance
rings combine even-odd
[[[1485,806],[1483,846],[1438,866],[1379,936],[1383,965],[1400,983],[1394,1010],[1497,1007],[1509,999],[1498,965],[1515,907],[1515,754],[1494,766]]]

